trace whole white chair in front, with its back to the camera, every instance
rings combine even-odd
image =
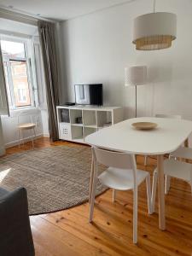
[[[148,195],[148,213],[151,214],[151,189],[150,175],[148,172],[137,170],[135,155],[118,153],[92,148],[93,155],[93,176],[90,194],[90,222],[93,219],[94,203],[96,195],[97,178],[100,182],[111,189],[133,190],[133,242],[137,243],[137,186],[146,179]],[[109,166],[97,177],[97,163]],[[114,191],[114,190],[113,190]],[[114,197],[114,193],[113,193]]]

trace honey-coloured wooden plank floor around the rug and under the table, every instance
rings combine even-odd
[[[49,143],[38,139],[36,148],[73,143]],[[25,150],[31,147],[26,143]],[[9,148],[13,154],[18,148]],[[137,156],[137,166],[151,172],[156,162]],[[192,196],[188,183],[172,179],[166,195],[166,231],[158,228],[158,206],[148,215],[145,184],[139,188],[138,244],[132,243],[132,193],[118,192],[112,202],[108,190],[96,198],[94,223],[88,223],[89,205],[85,203],[69,210],[32,216],[32,235],[37,256],[93,256],[93,255],[192,255]]]

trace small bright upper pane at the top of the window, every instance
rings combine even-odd
[[[26,57],[23,43],[1,40],[1,48],[3,56],[8,56],[10,59]]]

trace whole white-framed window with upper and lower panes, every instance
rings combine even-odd
[[[35,107],[31,39],[2,36],[0,40],[9,108]]]

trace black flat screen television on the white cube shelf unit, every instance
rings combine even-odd
[[[75,103],[102,106],[102,84],[75,84]]]

